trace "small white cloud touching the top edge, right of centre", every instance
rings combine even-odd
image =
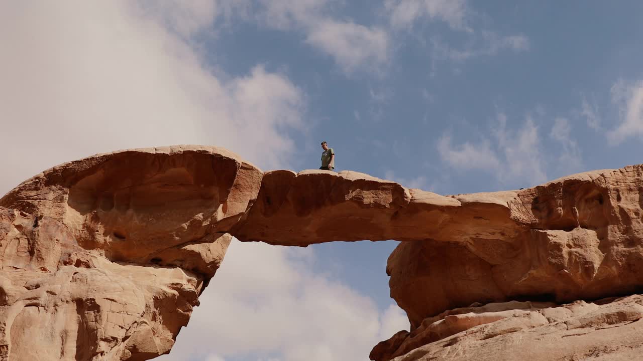
[[[394,28],[408,28],[426,16],[441,19],[451,28],[464,29],[469,12],[465,0],[386,0],[385,8]]]

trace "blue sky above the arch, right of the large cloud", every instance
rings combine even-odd
[[[206,41],[208,60],[230,75],[263,64],[305,94],[303,129],[287,130],[296,141],[290,157],[295,169],[315,165],[319,139],[338,152],[338,169],[393,175],[440,193],[520,188],[579,170],[637,163],[636,157],[620,157],[622,163],[614,164],[611,155],[634,155],[637,134],[626,132],[611,144],[606,137],[622,120],[613,88],[640,85],[643,26],[637,19],[643,5],[636,1],[618,7],[600,1],[485,7],[456,1],[458,16],[418,10],[401,24],[391,12],[404,1],[388,2],[388,8],[364,1],[309,3],[325,5],[314,15],[291,17],[352,21],[383,31],[386,46],[361,49],[367,58],[345,65],[332,54],[342,47],[329,53],[311,44],[314,30],[305,24],[278,26],[255,19],[261,17],[256,13],[230,15],[218,36]],[[253,3],[246,11],[265,8]],[[498,147],[494,137],[499,118],[506,119],[510,139],[522,130],[534,132],[532,149],[518,154],[535,161],[531,170],[507,166],[507,147]],[[551,136],[556,119],[564,119],[559,127],[569,134]],[[440,139],[449,139],[444,148]],[[493,153],[503,164],[476,166],[453,154],[466,149]],[[571,162],[559,164],[561,155]],[[476,181],[463,172],[475,173]]]

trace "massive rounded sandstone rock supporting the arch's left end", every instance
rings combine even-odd
[[[61,164],[0,200],[0,360],[167,353],[262,172],[177,146]]]

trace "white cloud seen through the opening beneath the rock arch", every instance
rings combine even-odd
[[[283,361],[367,360],[377,342],[408,330],[404,313],[312,272],[312,249],[233,241],[188,327],[159,361],[272,355]],[[197,347],[198,346],[198,347]]]

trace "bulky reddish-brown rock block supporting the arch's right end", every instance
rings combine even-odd
[[[388,260],[392,297],[416,328],[474,302],[641,292],[642,170],[581,173],[516,192],[507,207],[523,230],[514,236],[401,243]]]

